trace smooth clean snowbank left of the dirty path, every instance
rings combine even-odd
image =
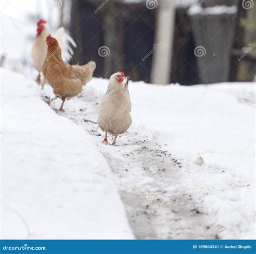
[[[133,238],[92,137],[23,75],[1,68],[1,84],[1,238]]]

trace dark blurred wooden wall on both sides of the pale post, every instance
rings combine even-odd
[[[189,6],[176,6],[169,83],[253,81],[256,47],[241,61],[238,58],[244,47],[256,42],[255,6],[244,9],[242,1],[236,0],[205,0],[201,6],[207,8],[220,2],[237,5],[238,12],[190,16]],[[141,59],[153,47],[159,6],[147,9],[145,1],[109,0],[95,13],[102,3],[104,1],[72,0],[68,26],[78,47],[71,62],[83,64],[93,59],[97,63],[95,76],[109,78],[117,70],[123,70],[133,81],[150,82],[153,54],[145,61]],[[103,45],[110,49],[106,57],[98,54]],[[198,45],[204,45],[207,52],[200,59],[194,55]]]

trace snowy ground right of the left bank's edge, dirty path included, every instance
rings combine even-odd
[[[94,137],[136,238],[254,238],[254,84],[130,82],[133,123],[112,147],[96,123],[107,83],[93,78],[60,115]]]

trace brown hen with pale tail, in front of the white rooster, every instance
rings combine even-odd
[[[82,66],[69,65],[62,60],[62,52],[58,41],[51,37],[51,34],[46,38],[46,44],[48,45],[48,51],[42,72],[55,94],[55,97],[48,103],[50,104],[56,98],[61,98],[62,105],[59,111],[64,112],[63,104],[66,98],[76,96],[82,91],[83,85],[92,79],[96,63],[90,61]]]

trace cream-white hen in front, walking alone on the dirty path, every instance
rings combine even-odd
[[[107,133],[114,136],[112,145],[116,145],[117,136],[127,131],[132,123],[131,101],[128,80],[123,72],[111,75],[106,94],[99,102],[98,125],[105,132],[103,144],[109,145]]]

